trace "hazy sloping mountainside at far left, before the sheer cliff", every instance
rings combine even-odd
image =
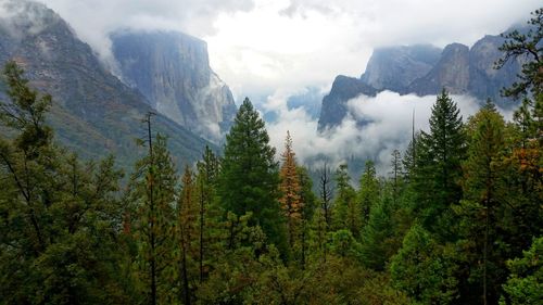
[[[153,111],[146,98],[102,67],[90,47],[43,4],[8,0],[0,12],[0,64],[16,61],[31,87],[53,97],[48,120],[56,139],[84,157],[113,153],[130,169],[144,153],[135,139],[144,135],[141,118]],[[210,144],[163,115],[153,118],[153,129],[169,137],[179,165],[198,160]]]

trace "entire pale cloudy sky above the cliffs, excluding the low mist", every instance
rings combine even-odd
[[[178,29],[209,43],[240,100],[358,76],[372,48],[473,43],[523,22],[540,0],[41,0],[106,55],[122,26]]]

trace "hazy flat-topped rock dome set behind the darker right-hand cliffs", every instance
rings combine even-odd
[[[376,49],[361,80],[378,90],[404,92],[435,65],[441,49],[429,45]]]

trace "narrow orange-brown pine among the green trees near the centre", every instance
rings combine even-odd
[[[279,198],[279,202],[287,217],[289,244],[290,247],[293,249],[300,229],[303,202],[300,198],[301,187],[298,177],[296,161],[294,158],[294,152],[292,151],[292,138],[289,131],[287,131],[285,152],[281,154],[281,157],[282,165],[279,171],[279,177],[281,178],[281,183],[279,185],[281,196]]]

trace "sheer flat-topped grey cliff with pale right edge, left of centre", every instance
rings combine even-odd
[[[111,38],[123,81],[159,113],[207,139],[227,131],[236,104],[210,67],[204,41],[175,31],[119,31]]]

